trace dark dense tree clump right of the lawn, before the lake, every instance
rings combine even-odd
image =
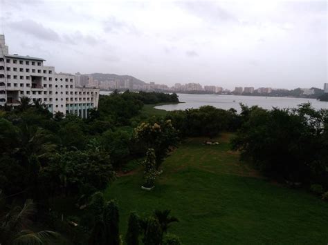
[[[328,112],[302,104],[294,110],[248,108],[233,140],[242,159],[267,175],[328,186]]]

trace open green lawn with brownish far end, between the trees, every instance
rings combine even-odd
[[[169,231],[183,244],[327,244],[328,204],[240,164],[229,137],[219,146],[188,139],[166,159],[151,192],[140,189],[142,170],[113,182],[105,196],[118,201],[120,233],[130,211],[168,208],[180,219]]]

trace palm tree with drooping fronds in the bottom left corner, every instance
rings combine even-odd
[[[58,239],[60,235],[53,231],[33,232],[26,227],[31,223],[30,216],[35,214],[35,204],[32,199],[27,199],[24,207],[15,206],[7,213],[1,213],[0,218],[0,244],[46,244]]]

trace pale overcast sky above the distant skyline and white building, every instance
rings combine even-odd
[[[173,86],[322,88],[327,1],[0,0],[10,54]]]

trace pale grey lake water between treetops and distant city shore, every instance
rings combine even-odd
[[[273,107],[295,108],[299,104],[310,102],[313,108],[328,109],[328,102],[317,101],[316,99],[240,95],[178,95],[179,101],[185,103],[156,106],[155,108],[163,110],[185,110],[188,108],[199,108],[201,106],[209,105],[226,110],[235,108],[240,112],[239,103],[246,104],[247,106],[260,106],[265,109],[271,109]]]

